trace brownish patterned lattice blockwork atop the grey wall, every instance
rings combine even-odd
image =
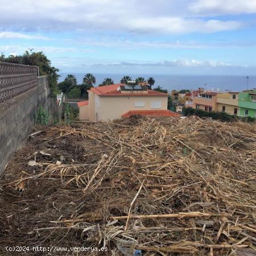
[[[0,104],[38,85],[38,67],[0,61]]]

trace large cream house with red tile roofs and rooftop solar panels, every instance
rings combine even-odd
[[[133,114],[180,117],[167,110],[168,94],[150,90],[147,85],[98,86],[90,88],[88,95],[88,102],[79,102],[80,119],[97,122],[130,117]]]

